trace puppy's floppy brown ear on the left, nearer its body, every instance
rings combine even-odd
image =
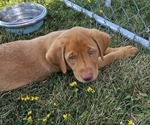
[[[67,72],[66,62],[65,62],[65,40],[57,39],[53,41],[49,50],[46,53],[46,60],[48,63],[55,65],[63,73]]]

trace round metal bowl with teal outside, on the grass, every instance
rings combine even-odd
[[[0,26],[17,34],[31,33],[43,25],[46,14],[46,8],[40,4],[16,4],[0,11]]]

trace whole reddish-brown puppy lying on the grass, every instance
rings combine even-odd
[[[74,27],[31,40],[0,45],[0,91],[8,91],[52,73],[71,69],[80,82],[93,81],[98,69],[133,56],[132,46],[109,48],[110,36],[96,29]]]

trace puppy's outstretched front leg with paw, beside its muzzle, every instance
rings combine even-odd
[[[98,59],[99,69],[109,65],[117,59],[134,56],[138,51],[137,48],[132,46],[119,47],[117,49],[114,48],[113,50],[115,51],[106,54],[103,60],[101,58]]]

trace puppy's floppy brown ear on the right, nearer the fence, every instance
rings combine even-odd
[[[107,49],[110,43],[110,35],[96,29],[90,29],[89,31],[93,40],[98,46],[100,56],[103,60],[103,54],[105,53],[105,50]]]

